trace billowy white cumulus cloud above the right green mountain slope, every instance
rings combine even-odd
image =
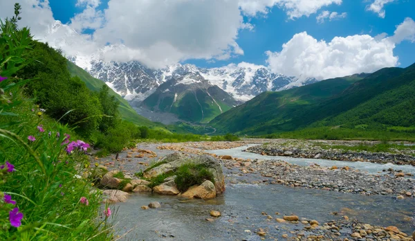
[[[331,42],[325,42],[306,32],[297,33],[283,44],[282,51],[266,52],[268,68],[277,73],[317,79],[370,73],[398,65],[394,48],[403,40],[414,41],[414,31],[414,21],[407,18],[391,37],[353,35],[334,37]]]

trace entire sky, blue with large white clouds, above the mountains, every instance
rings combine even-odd
[[[0,19],[15,1],[22,26],[86,70],[99,58],[324,79],[415,62],[414,0],[14,0]]]

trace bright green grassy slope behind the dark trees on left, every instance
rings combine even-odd
[[[105,83],[101,80],[93,78],[89,73],[84,71],[84,69],[76,66],[73,62],[68,61],[68,70],[72,76],[78,76],[82,81],[85,82],[86,87],[91,89],[92,91],[99,91],[102,85]],[[131,123],[135,123],[136,125],[145,125],[145,126],[157,126],[158,123],[153,123],[151,120],[144,118],[137,114],[137,112],[129,105],[127,100],[124,100],[118,93],[113,91],[112,89],[109,90],[110,94],[116,96],[117,100],[120,101],[120,114],[122,119],[128,120]]]

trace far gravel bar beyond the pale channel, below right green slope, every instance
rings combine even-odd
[[[338,148],[340,145],[352,146],[364,143],[374,145],[374,142],[362,141],[287,141],[272,140],[270,143],[248,148],[248,152],[268,156],[286,156],[311,159],[329,159],[335,161],[368,161],[372,163],[394,163],[396,165],[415,166],[415,150],[396,150],[392,152],[353,151]],[[322,148],[322,146],[324,148]],[[331,148],[333,146],[333,148]]]

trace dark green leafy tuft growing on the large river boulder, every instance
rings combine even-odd
[[[214,183],[214,176],[205,165],[187,163],[180,166],[176,170],[176,179],[174,182],[177,185],[178,190],[185,192],[191,186],[200,185],[203,181],[209,180]]]

